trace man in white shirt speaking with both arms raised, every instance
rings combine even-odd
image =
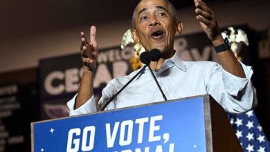
[[[138,3],[133,15],[132,38],[136,43],[141,43],[145,50],[161,50],[161,59],[152,61],[150,67],[168,99],[210,94],[228,112],[249,111],[256,99],[251,84],[251,67],[237,61],[219,32],[214,12],[206,3],[196,0],[195,13],[201,28],[213,46],[220,51],[217,56],[222,66],[210,61],[182,61],[175,53],[174,37],[181,34],[183,26],[177,19],[174,7],[166,0],[141,0]],[[71,115],[99,111],[100,107],[138,73],[136,70],[126,77],[111,80],[96,104],[93,99],[93,76],[98,57],[96,27],[92,26],[90,29],[89,43],[84,32],[81,33],[81,40],[80,53],[84,70],[78,95],[68,102]],[[106,109],[163,100],[150,71],[146,69]]]

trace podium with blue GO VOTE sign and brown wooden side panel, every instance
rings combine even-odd
[[[209,95],[33,122],[31,139],[32,151],[243,151]]]

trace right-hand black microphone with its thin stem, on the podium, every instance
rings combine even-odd
[[[152,61],[159,61],[159,59],[161,58],[161,51],[157,48],[154,48],[150,51],[149,53],[149,57]],[[167,101],[167,97],[165,96],[165,94],[163,93],[162,89],[161,89],[161,86],[159,85],[159,82],[156,80],[156,77],[154,76],[154,73],[153,73],[153,70],[152,68],[149,66],[149,64],[147,64],[149,70],[150,70],[150,73],[152,75],[152,77],[154,78],[154,82],[156,82],[156,85],[158,86],[159,88],[159,91],[161,92],[161,95],[163,96],[163,99],[165,101]]]

